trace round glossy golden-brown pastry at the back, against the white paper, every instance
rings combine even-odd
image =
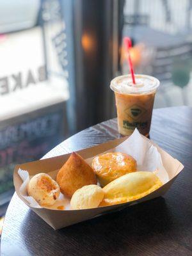
[[[103,187],[122,175],[136,172],[137,164],[132,156],[120,152],[110,152],[95,157],[92,167]]]

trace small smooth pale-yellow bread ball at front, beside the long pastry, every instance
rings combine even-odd
[[[104,197],[102,188],[97,185],[88,185],[77,189],[70,200],[72,209],[90,209],[98,207]]]

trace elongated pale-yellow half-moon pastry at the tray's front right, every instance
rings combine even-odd
[[[152,193],[163,185],[152,172],[133,172],[113,180],[103,189],[104,199],[100,205],[131,202]]]

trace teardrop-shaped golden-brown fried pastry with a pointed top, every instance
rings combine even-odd
[[[97,178],[92,167],[75,152],[70,155],[67,162],[61,167],[56,180],[61,192],[68,197],[72,197],[76,190],[83,186],[97,184]]]

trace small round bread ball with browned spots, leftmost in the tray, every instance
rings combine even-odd
[[[60,187],[47,173],[38,173],[28,184],[28,195],[42,206],[53,205],[60,195]]]

